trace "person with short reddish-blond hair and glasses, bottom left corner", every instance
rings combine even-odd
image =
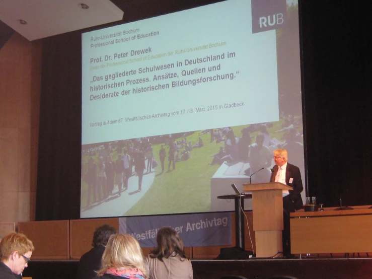
[[[34,245],[24,234],[11,232],[0,242],[0,278],[22,278],[28,266]]]

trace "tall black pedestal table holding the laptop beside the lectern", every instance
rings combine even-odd
[[[217,196],[220,199],[234,199],[235,201],[235,246],[245,250],[244,243],[244,199],[252,198],[252,194],[233,194]]]

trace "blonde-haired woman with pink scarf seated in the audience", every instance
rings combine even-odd
[[[101,260],[99,279],[145,279],[143,254],[139,243],[132,236],[110,236]]]

